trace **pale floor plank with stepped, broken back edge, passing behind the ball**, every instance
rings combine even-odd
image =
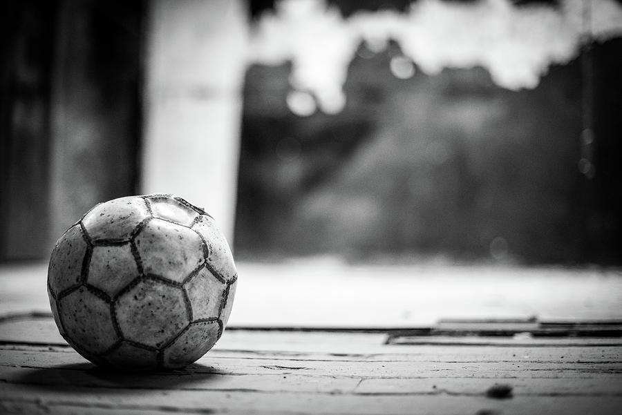
[[[352,358],[373,360],[374,356],[385,359],[417,360],[417,356],[429,358],[433,351],[448,354],[456,358],[481,361],[487,356],[489,361],[525,360],[534,356],[543,362],[568,360],[598,360],[605,355],[610,358],[622,358],[622,338],[548,338],[539,340],[534,348],[533,340],[511,338],[492,341],[491,338],[461,337],[447,340],[428,336],[421,342],[386,345],[386,334],[382,333],[346,333],[326,331],[263,331],[263,330],[226,330],[211,354],[220,351],[254,351],[261,354],[281,352],[281,354],[301,354],[312,358],[312,354],[323,352],[324,358],[339,359],[344,355]],[[426,340],[426,341],[423,341]],[[0,321],[0,343],[30,345],[67,345],[58,334],[58,329],[51,315],[30,316],[28,314]],[[431,344],[433,343],[433,344]],[[482,344],[483,343],[483,344]],[[496,347],[502,345],[504,347]],[[438,347],[445,346],[445,347]],[[456,354],[451,346],[458,346]],[[572,346],[564,347],[563,346]],[[567,350],[567,351],[566,351]],[[603,353],[601,353],[603,351]],[[441,358],[441,357],[439,357]]]

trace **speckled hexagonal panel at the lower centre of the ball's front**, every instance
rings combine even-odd
[[[151,278],[121,293],[115,313],[124,338],[156,348],[189,323],[182,288]]]

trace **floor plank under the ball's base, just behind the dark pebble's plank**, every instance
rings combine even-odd
[[[0,350],[1,366],[37,369],[73,368],[86,363],[78,354]],[[378,362],[216,358],[209,354],[190,369],[194,374],[292,374],[343,378],[612,378],[622,377],[622,362],[549,364],[540,362],[456,363]]]

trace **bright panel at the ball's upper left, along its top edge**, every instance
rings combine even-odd
[[[95,206],[82,224],[94,242],[129,240],[135,227],[147,217],[149,211],[142,197],[129,196]]]

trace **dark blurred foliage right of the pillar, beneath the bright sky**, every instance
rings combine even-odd
[[[334,116],[288,111],[288,66],[248,71],[238,254],[622,262],[622,39],[518,92],[481,68],[397,79],[395,53],[355,58]]]

